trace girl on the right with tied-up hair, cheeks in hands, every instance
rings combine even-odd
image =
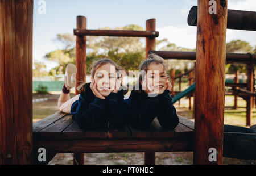
[[[168,80],[163,58],[150,54],[141,62],[139,90],[131,91],[129,104],[131,125],[135,128],[148,127],[155,118],[165,129],[174,129],[179,123],[176,109],[170,96],[172,85]]]

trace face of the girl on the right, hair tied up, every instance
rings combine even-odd
[[[152,63],[148,66],[146,74],[147,82],[150,82],[155,93],[162,94],[167,88],[167,73],[163,64]]]

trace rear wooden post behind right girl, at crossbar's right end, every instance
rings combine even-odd
[[[146,31],[155,31],[155,19],[146,20]],[[155,37],[146,37],[146,59],[148,58],[148,51],[155,50]],[[145,164],[155,164],[155,152],[145,152]]]

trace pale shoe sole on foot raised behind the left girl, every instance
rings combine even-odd
[[[67,84],[67,89],[71,89],[76,86],[76,65],[68,64],[65,71],[65,84]],[[66,82],[67,81],[67,82]]]

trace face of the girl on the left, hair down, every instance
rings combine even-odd
[[[104,97],[108,96],[115,89],[115,82],[117,81],[115,66],[110,63],[100,66],[93,79],[99,93]]]

